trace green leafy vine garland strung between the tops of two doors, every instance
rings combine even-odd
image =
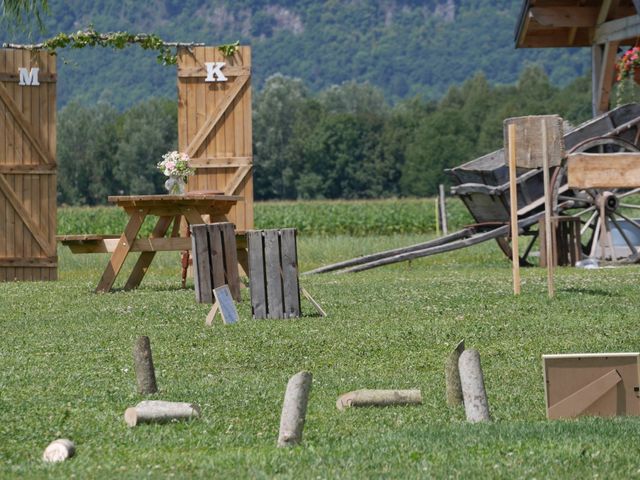
[[[111,47],[123,49],[128,45],[138,44],[144,50],[154,50],[157,54],[158,63],[162,65],[175,65],[178,56],[174,53],[173,47],[193,47],[204,45],[201,43],[175,43],[165,42],[155,34],[147,33],[129,33],[129,32],[109,32],[99,33],[93,27],[85,30],[79,30],[76,33],[66,34],[59,33],[55,37],[49,38],[37,45],[13,45],[4,44],[9,48],[27,48],[39,49],[43,48],[51,54],[56,54],[59,48],[84,48],[84,47]],[[225,57],[230,57],[238,50],[240,42],[229,43],[218,46],[218,49]]]

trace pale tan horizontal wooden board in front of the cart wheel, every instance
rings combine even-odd
[[[572,153],[567,182],[569,188],[640,187],[640,153]]]

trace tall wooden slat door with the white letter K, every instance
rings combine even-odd
[[[214,63],[224,63],[219,72],[225,81],[207,71],[207,64]],[[229,221],[237,230],[253,228],[249,47],[239,47],[230,57],[216,47],[179,49],[178,144],[196,167],[187,191],[216,190],[242,196],[228,215]]]

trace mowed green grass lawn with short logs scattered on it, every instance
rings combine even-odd
[[[432,235],[302,232],[300,267]],[[59,256],[57,282],[0,284],[0,478],[640,476],[640,420],[546,420],[541,362],[640,350],[638,267],[561,268],[552,300],[545,270],[525,269],[514,297],[510,264],[491,242],[302,276],[327,318],[303,301],[300,319],[252,320],[244,290],[241,321],[208,328],[208,307],[180,288],[178,254],[160,254],[138,290],[101,295],[93,289],[107,256]],[[197,403],[201,418],[126,426],[125,409],[143,399],[139,335],[151,338],[160,388],[148,398]],[[492,423],[468,424],[446,404],[444,362],[461,339],[480,351]],[[285,386],[301,370],[313,374],[304,440],[278,449]],[[419,388],[424,403],[339,412],[336,398],[359,388]],[[77,454],[45,465],[58,437]]]

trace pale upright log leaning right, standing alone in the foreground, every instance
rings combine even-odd
[[[311,382],[310,372],[299,372],[289,379],[280,416],[278,447],[289,447],[302,441]]]

